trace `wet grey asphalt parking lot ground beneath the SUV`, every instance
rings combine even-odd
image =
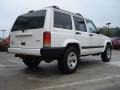
[[[120,90],[120,50],[103,63],[100,56],[81,57],[76,73],[63,75],[57,61],[27,68],[14,54],[0,52],[0,90]]]

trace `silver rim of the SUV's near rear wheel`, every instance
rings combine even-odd
[[[77,65],[77,55],[74,52],[70,52],[67,58],[68,66],[70,69],[74,69]]]

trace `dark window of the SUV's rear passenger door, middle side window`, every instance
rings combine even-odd
[[[73,17],[73,18],[74,18],[74,23],[75,23],[75,29],[77,31],[87,32],[84,19],[77,18],[77,17]]]

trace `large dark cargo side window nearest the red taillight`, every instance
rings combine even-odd
[[[54,27],[72,29],[71,16],[68,14],[54,11]]]

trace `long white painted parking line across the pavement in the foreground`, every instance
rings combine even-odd
[[[109,79],[112,79],[112,78],[119,78],[119,77],[120,77],[120,75],[111,75],[111,76],[101,77],[101,78],[98,78],[98,79],[78,81],[78,82],[66,83],[66,84],[55,85],[55,86],[50,86],[50,87],[36,88],[36,89],[32,89],[32,90],[49,90],[49,89],[64,88],[64,87],[68,87],[68,86],[75,86],[75,85],[81,85],[81,84],[87,84],[87,83],[94,83],[94,82],[99,82],[99,81],[109,80]]]

